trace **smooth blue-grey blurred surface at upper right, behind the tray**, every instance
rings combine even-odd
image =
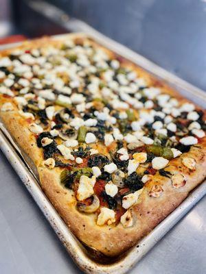
[[[50,0],[206,90],[205,0]]]

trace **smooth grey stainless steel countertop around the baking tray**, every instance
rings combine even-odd
[[[88,7],[82,0],[71,1],[70,4],[72,2],[72,15],[77,16],[80,14],[79,10],[82,10],[84,16],[80,14],[80,18],[89,21],[91,25],[95,25],[108,36],[123,42],[189,82],[205,88],[206,82],[203,76],[205,75],[206,55],[204,54],[205,39],[203,37],[205,36],[203,34],[206,28],[200,27],[206,22],[205,0],[175,0],[170,4],[168,4],[169,1],[160,0],[139,0],[137,4],[136,1],[130,0],[128,1],[130,5],[126,5],[125,9],[128,13],[127,17],[124,17],[124,7],[120,5],[123,1],[118,0],[120,3],[116,7],[115,2],[117,1],[113,0],[111,12],[106,16],[112,18],[112,10],[117,10],[118,16],[115,16],[115,21],[118,19],[119,22],[123,21],[126,29],[130,27],[130,32],[126,31],[124,25],[119,32],[115,30],[113,24],[106,25],[108,21],[103,20],[105,12],[102,10],[108,0],[104,3],[102,1],[102,5],[90,0]],[[81,8],[83,2],[84,8]],[[62,3],[62,7],[66,9],[65,1],[61,0],[59,3]],[[162,25],[165,25],[165,32],[163,32]],[[185,32],[185,29],[188,32]],[[190,43],[191,37],[194,39]],[[1,151],[0,186],[0,273],[82,273],[69,258],[52,227],[49,226]],[[205,273],[205,205],[206,197],[130,273]]]

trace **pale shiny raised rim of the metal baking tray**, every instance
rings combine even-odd
[[[102,44],[106,45],[108,48],[113,49],[119,54],[122,54],[124,57],[128,59],[132,59],[133,62],[137,62],[145,69],[150,71],[153,74],[161,76],[163,79],[167,79],[173,86],[180,90],[183,95],[187,97],[194,97],[196,96],[196,103],[200,105],[205,105],[205,94],[194,88],[190,84],[178,79],[170,75],[157,67],[156,65],[152,64],[150,61],[142,58],[140,55],[129,51],[125,47],[118,45],[116,42],[112,40],[108,40],[108,38],[98,34],[97,32],[89,32],[89,35],[95,40],[98,40]],[[63,38],[65,39],[66,36],[56,36],[55,38]],[[2,128],[2,126],[1,126]],[[58,234],[60,240],[62,240],[63,244],[69,251],[70,255],[72,256],[73,260],[84,269],[87,273],[125,273],[130,269],[131,266],[137,261],[139,261],[152,247],[155,245],[156,242],[166,233],[170,228],[177,222],[181,217],[194,206],[194,204],[203,197],[206,193],[206,183],[201,184],[192,194],[168,216],[160,225],[158,225],[153,232],[151,232],[148,236],[146,236],[141,242],[139,243],[139,247],[133,248],[126,257],[124,257],[119,262],[115,262],[111,265],[102,266],[100,264],[96,264],[92,260],[90,260],[86,253],[84,253],[84,249],[80,247],[76,238],[72,236],[72,234],[67,229],[65,223],[62,222],[54,208],[50,205],[49,201],[45,198],[45,195],[39,188],[38,183],[35,180],[35,177],[32,173],[29,172],[27,166],[23,163],[19,155],[16,155],[14,151],[14,147],[10,145],[10,142],[1,134],[0,137],[0,146],[5,155],[7,155],[8,159],[10,160],[12,166],[21,177],[22,181],[24,182],[27,189],[30,191],[31,195],[34,197],[36,203],[41,208],[43,213],[45,214],[46,218],[51,223],[52,227],[54,228],[56,234]]]

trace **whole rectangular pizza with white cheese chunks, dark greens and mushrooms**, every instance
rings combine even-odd
[[[105,256],[205,179],[205,110],[83,34],[1,51],[0,117],[71,232]]]

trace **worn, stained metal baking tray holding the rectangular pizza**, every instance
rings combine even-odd
[[[115,53],[122,55],[122,57],[131,60],[138,64],[143,69],[146,69],[155,77],[164,80],[176,90],[191,99],[203,108],[206,104],[206,94],[203,90],[192,86],[191,84],[179,79],[161,69],[156,64],[150,62],[143,56],[127,49],[126,47],[119,45],[119,43],[103,36],[99,32],[95,31],[91,27],[84,28],[84,34],[78,34],[80,36],[87,36],[104,45],[108,49],[111,49]],[[63,34],[58,36],[52,36],[54,39],[65,39],[72,34]],[[21,43],[15,43],[10,45],[1,46],[0,49],[5,49],[21,45]],[[7,132],[2,123],[0,123],[0,148],[8,158],[16,173],[18,173],[23,184],[30,192],[43,214],[52,225],[58,238],[67,249],[69,255],[74,262],[84,271],[84,273],[93,274],[122,274],[129,271],[134,264],[136,264],[152,247],[206,194],[206,182],[203,182],[198,186],[190,195],[176,208],[168,217],[166,217],[155,229],[145,236],[137,245],[124,253],[119,258],[113,261],[105,261],[101,256],[97,254],[93,249],[88,249],[69,231],[67,225],[58,215],[58,212],[54,209],[49,202],[43,190],[38,183],[38,175],[34,169],[34,166],[25,158],[22,151],[16,145],[12,137]]]

